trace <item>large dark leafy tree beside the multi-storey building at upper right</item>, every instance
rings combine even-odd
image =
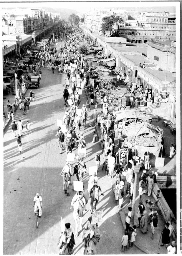
[[[115,29],[114,29],[114,24],[116,22],[123,22],[124,20],[118,16],[108,16],[108,17],[103,17],[102,18],[102,25],[101,25],[101,31],[102,34],[105,35],[107,32],[110,33],[111,36],[116,36]],[[117,33],[118,35],[118,33]]]

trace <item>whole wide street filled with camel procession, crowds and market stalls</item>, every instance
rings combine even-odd
[[[93,42],[82,30],[53,32],[4,100],[4,255],[166,254],[176,246],[175,204],[164,219],[151,163],[174,161],[176,133],[138,110],[143,92],[129,74],[84,55]]]

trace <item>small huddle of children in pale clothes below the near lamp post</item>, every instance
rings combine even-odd
[[[128,231],[125,231],[125,234],[122,237],[121,243],[121,251],[123,252],[123,247],[124,251],[127,249],[130,249],[130,247],[133,247],[133,242],[135,242],[135,236],[137,235],[136,233],[136,226],[134,225],[133,228],[130,227]]]

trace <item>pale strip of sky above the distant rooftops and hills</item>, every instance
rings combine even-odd
[[[96,1],[36,1],[36,2],[29,2],[26,1],[26,3],[22,3],[21,1],[16,1],[13,3],[13,1],[6,1],[6,4],[4,3],[3,8],[22,8],[22,7],[34,7],[34,8],[67,8],[67,9],[75,9],[78,12],[87,12],[88,9],[90,8],[123,8],[131,11],[135,10],[140,10],[140,11],[168,11],[171,13],[175,12],[175,2],[166,2],[166,1],[140,1],[140,2],[130,2],[130,1],[125,1],[125,2],[115,2],[115,1],[101,1],[101,2],[96,2]],[[128,7],[128,8],[127,8]],[[159,7],[159,8],[157,8]],[[163,8],[161,8],[163,7]]]

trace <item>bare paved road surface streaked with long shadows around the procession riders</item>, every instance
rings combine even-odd
[[[16,112],[16,120],[24,125],[22,143],[23,151],[19,154],[17,137],[11,133],[11,126],[4,134],[4,254],[59,254],[57,240],[61,232],[61,216],[64,222],[74,220],[70,203],[75,192],[70,189],[70,197],[64,195],[62,177],[59,176],[66,162],[66,153],[59,154],[57,138],[57,119],[64,115],[63,90],[64,78],[55,70],[54,74],[47,68],[42,70],[39,89],[34,89],[35,102],[31,102],[27,115]],[[27,95],[29,95],[29,90]],[[81,95],[81,104],[86,102],[85,91]],[[68,108],[69,109],[69,108]],[[31,133],[25,130],[26,121],[31,125]],[[98,139],[92,143],[92,124],[88,109],[87,127],[84,137],[87,143],[85,163],[87,168],[95,166],[95,153],[101,151]],[[74,150],[77,152],[77,150]],[[102,163],[102,157],[101,157]],[[84,177],[87,188],[88,174]],[[97,210],[103,210],[103,219],[99,223],[101,240],[97,245],[98,254],[120,254],[120,240],[123,226],[116,208],[110,179],[99,169],[98,184],[104,196],[100,197]],[[75,177],[74,177],[74,180]],[[39,192],[43,199],[43,213],[40,225],[36,229],[33,211],[33,199]],[[89,209],[90,205],[87,205]],[[90,217],[84,215],[83,224]],[[82,233],[75,238],[73,254],[83,254]],[[133,247],[125,254],[140,254]]]

